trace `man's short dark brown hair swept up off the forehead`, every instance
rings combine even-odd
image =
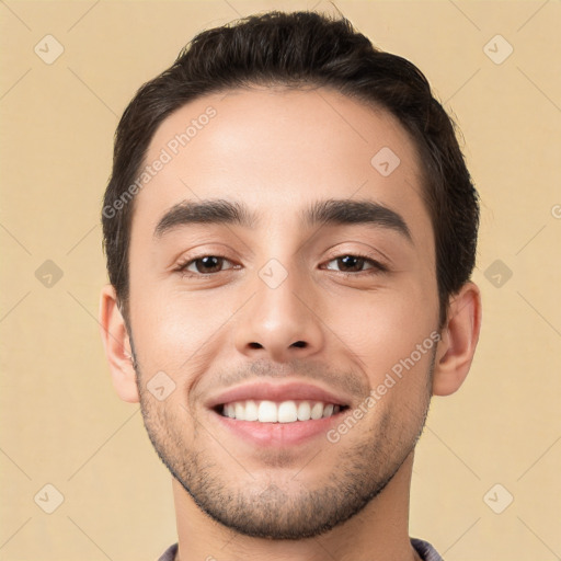
[[[252,85],[331,88],[399,119],[422,162],[422,194],[433,225],[443,325],[449,297],[473,270],[479,228],[479,196],[455,123],[416,66],[375,47],[344,16],[312,11],[271,11],[199,33],[126,107],[115,133],[102,211],[110,282],[125,320],[134,201],[123,204],[123,196],[137,181],[158,126],[191,101]]]

